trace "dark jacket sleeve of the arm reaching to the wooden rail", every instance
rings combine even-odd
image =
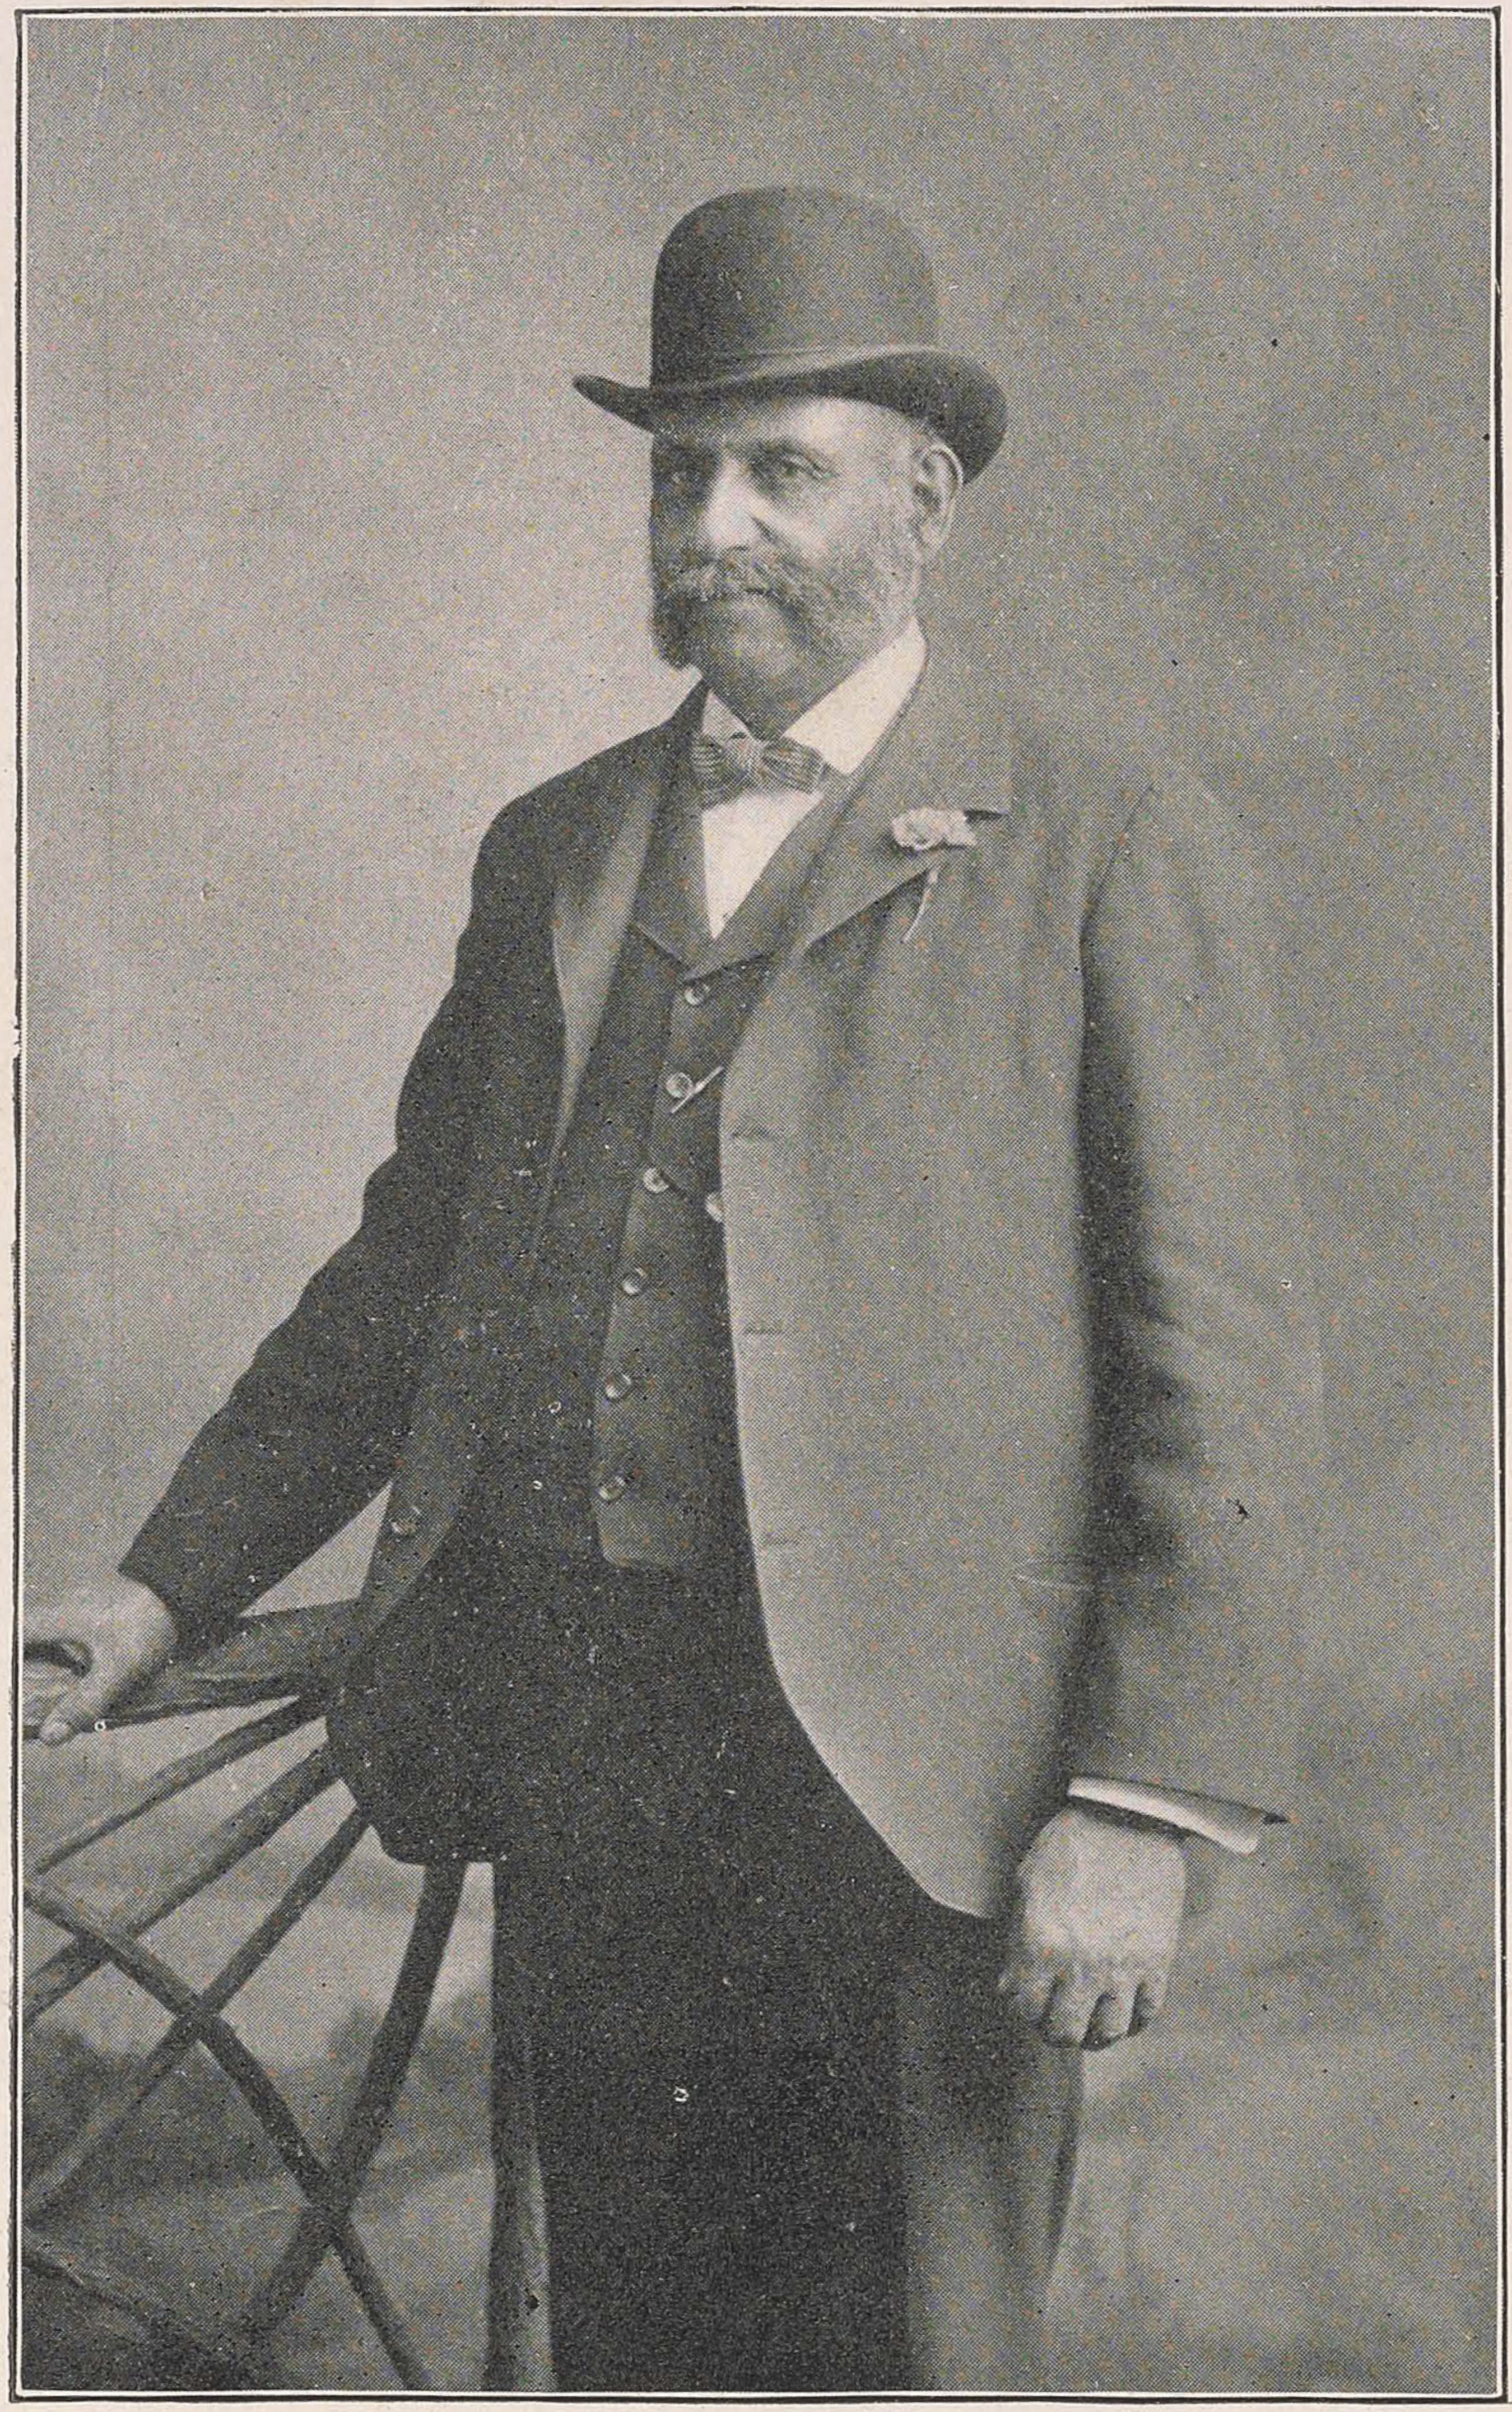
[[[357,1233],[191,1442],[123,1573],[200,1647],[393,1476],[451,1266],[487,1069],[504,1044],[518,897],[490,837],[456,974],[405,1076]],[[516,982],[518,987],[518,982]]]

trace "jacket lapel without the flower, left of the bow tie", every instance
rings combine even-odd
[[[584,820],[557,878],[552,960],[567,1035],[555,1148],[562,1146],[593,1054],[656,813],[702,709],[704,690],[695,687],[670,721],[627,748],[603,779],[593,813]]]

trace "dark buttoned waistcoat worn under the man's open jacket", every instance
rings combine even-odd
[[[714,938],[702,798],[673,765],[463,1529],[680,1573],[743,1529],[719,1081],[842,808],[844,791],[805,813]]]

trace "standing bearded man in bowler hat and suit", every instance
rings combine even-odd
[[[1022,2388],[1076,2053],[1280,1787],[1242,849],[928,649],[1006,403],[895,219],[707,203],[649,386],[579,386],[699,683],[490,830],[362,1228],[53,1621],[43,1739],[391,1483],[330,1727],[391,1850],[494,1860],[557,2383]]]

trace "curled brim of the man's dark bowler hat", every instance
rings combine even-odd
[[[957,456],[965,478],[981,475],[1008,425],[1008,403],[996,376],[960,352],[928,347],[830,352],[822,359],[789,355],[678,386],[622,386],[613,376],[574,376],[572,384],[600,410],[613,410],[617,420],[651,432],[680,410],[738,393],[834,393],[842,400],[880,403],[883,410],[926,420]]]

